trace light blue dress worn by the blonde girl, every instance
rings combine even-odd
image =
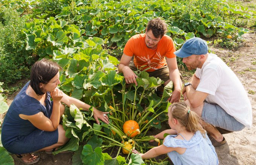
[[[180,134],[181,135],[181,134]],[[187,148],[185,153],[176,151],[167,153],[174,165],[218,165],[219,160],[209,137],[203,138],[197,131],[190,140],[176,139],[177,135],[168,135],[163,145],[166,147]]]

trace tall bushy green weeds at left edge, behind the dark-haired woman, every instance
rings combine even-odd
[[[0,81],[12,83],[25,77],[29,71],[27,64],[34,62],[25,51],[26,35],[22,28],[26,17],[19,17],[14,9],[0,9]]]

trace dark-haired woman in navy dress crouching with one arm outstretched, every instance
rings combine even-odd
[[[3,121],[3,147],[16,154],[25,164],[39,160],[30,152],[51,153],[69,140],[59,124],[65,110],[61,102],[67,106],[75,104],[83,110],[90,108],[90,105],[67,96],[57,88],[60,84],[59,69],[61,67],[57,63],[47,59],[36,62],[31,68],[30,81],[15,97]],[[106,114],[93,108],[93,116],[98,124],[98,119],[109,123]]]

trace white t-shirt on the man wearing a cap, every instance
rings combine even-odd
[[[235,73],[216,54],[209,54],[195,75],[200,79],[196,90],[209,94],[207,102],[218,104],[245,127],[251,127],[252,109],[247,93]]]

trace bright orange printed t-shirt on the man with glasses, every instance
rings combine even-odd
[[[145,37],[145,33],[132,36],[123,49],[124,54],[134,55],[134,65],[141,71],[147,68],[150,68],[147,72],[155,71],[167,65],[165,57],[176,57],[174,54],[175,46],[171,37],[164,35],[155,49],[146,46]]]

